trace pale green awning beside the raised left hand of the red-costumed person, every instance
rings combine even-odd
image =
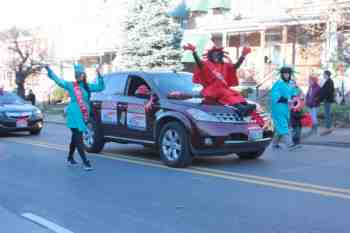
[[[181,43],[181,47],[187,43],[191,43],[196,46],[197,53],[199,56],[202,56],[204,49],[211,43],[210,34],[193,34],[193,35],[184,35]],[[185,51],[182,54],[181,62],[194,62],[193,55],[189,51]]]

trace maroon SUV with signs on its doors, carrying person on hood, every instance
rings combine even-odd
[[[168,166],[185,167],[195,156],[256,159],[271,142],[270,127],[233,107],[203,104],[190,73],[113,73],[105,82],[105,91],[92,96],[94,120],[84,135],[89,152],[106,142],[138,143],[157,149]],[[149,92],[138,93],[140,86]]]

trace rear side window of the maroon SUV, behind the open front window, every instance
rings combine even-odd
[[[112,74],[106,77],[106,95],[124,95],[125,84],[127,80],[126,74]]]

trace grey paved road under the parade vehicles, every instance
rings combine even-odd
[[[140,146],[109,144],[85,172],[65,166],[68,141],[54,124],[39,137],[0,138],[0,217],[16,219],[13,229],[31,224],[21,217],[30,213],[74,233],[350,231],[347,149],[268,150],[257,161],[198,159],[178,170]]]

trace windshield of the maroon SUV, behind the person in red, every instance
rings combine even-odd
[[[199,96],[202,86],[192,82],[192,74],[172,73],[163,74],[153,79],[156,86],[164,95],[180,92],[190,96]]]

